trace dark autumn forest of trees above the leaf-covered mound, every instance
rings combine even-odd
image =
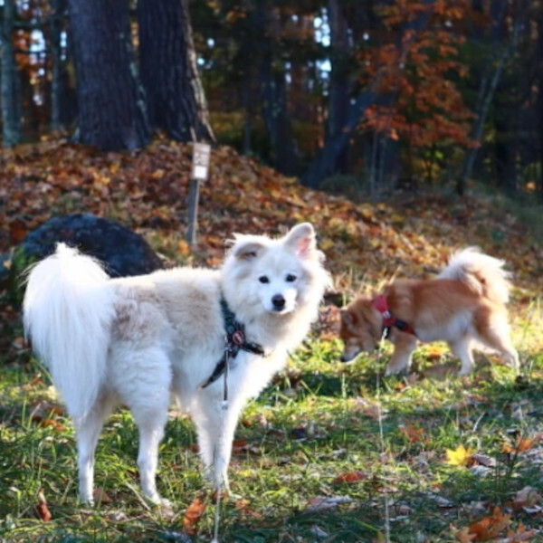
[[[63,133],[142,148],[159,129],[231,145],[313,188],[378,197],[452,184],[462,194],[476,178],[542,197],[540,2],[81,6],[0,3],[5,147]],[[100,66],[100,83],[88,64]],[[183,94],[195,103],[179,119]]]

